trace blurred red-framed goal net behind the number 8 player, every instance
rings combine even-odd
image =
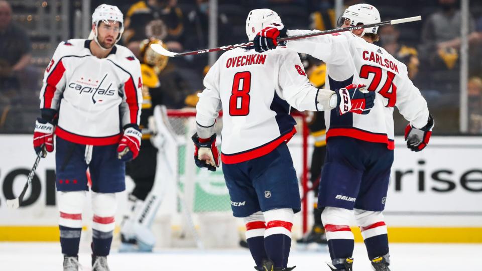
[[[175,214],[170,219],[170,246],[232,247],[244,238],[242,219],[231,213],[231,202],[222,174],[222,166],[215,172],[199,169],[194,164],[194,144],[191,137],[196,130],[195,110],[168,110],[169,123],[177,136],[177,175]],[[294,235],[300,236],[307,228],[308,202],[308,129],[303,114],[292,114],[297,122],[297,133],[288,143],[293,163],[300,180],[303,198],[302,212],[295,216]],[[222,118],[217,119],[216,133],[220,135]],[[220,138],[218,138],[218,143]],[[164,204],[164,203],[163,203]],[[160,227],[162,228],[162,227]],[[166,228],[164,228],[166,229]],[[164,233],[160,233],[165,236]]]

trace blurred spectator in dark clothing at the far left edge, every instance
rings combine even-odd
[[[32,46],[27,33],[12,23],[12,8],[0,0],[0,99],[17,95],[16,74],[30,64]]]

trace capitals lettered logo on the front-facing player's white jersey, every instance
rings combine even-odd
[[[91,79],[87,81],[84,80],[82,77],[81,80],[76,80],[75,82],[71,82],[68,84],[69,88],[72,90],[76,90],[79,92],[79,95],[83,95],[84,93],[92,94],[92,103],[95,104],[97,102],[102,102],[102,96],[114,96],[115,95],[115,88],[112,87],[112,83],[104,83],[107,74],[102,77],[100,82],[96,80],[93,82]],[[107,87],[105,87],[109,84]]]

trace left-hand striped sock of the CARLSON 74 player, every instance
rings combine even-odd
[[[348,226],[351,215],[350,210],[335,207],[326,207],[322,212],[331,261],[338,269],[353,254],[354,236]]]

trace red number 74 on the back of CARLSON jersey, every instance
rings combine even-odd
[[[362,69],[360,69],[360,77],[368,79],[368,76],[373,73],[374,77],[370,86],[368,86],[368,90],[376,91],[382,81],[382,73],[383,70],[380,67],[370,66],[370,65],[363,65]],[[383,84],[382,88],[378,93],[385,98],[388,99],[387,107],[394,107],[395,103],[397,102],[397,86],[394,83],[395,80],[395,73],[391,71],[387,71],[387,80]]]

